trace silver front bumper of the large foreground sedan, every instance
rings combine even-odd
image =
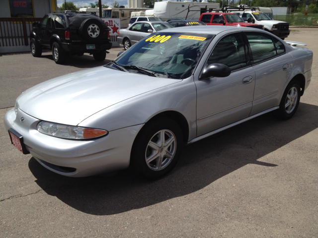
[[[21,118],[24,122],[21,122]],[[110,131],[94,140],[68,140],[37,131],[40,120],[20,109],[4,116],[6,129],[13,128],[24,139],[26,149],[45,168],[64,176],[86,177],[125,169],[129,166],[134,139],[143,126],[135,125]]]

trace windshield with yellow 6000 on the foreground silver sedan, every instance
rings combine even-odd
[[[140,70],[142,68],[159,77],[187,78],[213,37],[209,34],[158,32],[139,41],[114,60],[112,66],[121,66],[133,73],[149,75]]]

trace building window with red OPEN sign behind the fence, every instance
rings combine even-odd
[[[34,17],[32,0],[9,0],[11,17]]]

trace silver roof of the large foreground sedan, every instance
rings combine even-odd
[[[169,29],[161,30],[160,32],[178,32],[182,34],[186,33],[199,33],[199,34],[212,34],[217,35],[224,31],[237,30],[239,31],[259,31],[264,32],[262,29],[243,27],[243,26],[187,26],[187,27],[173,27]]]

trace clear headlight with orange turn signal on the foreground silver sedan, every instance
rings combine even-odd
[[[43,134],[73,140],[97,138],[108,134],[107,130],[64,125],[44,120],[37,124],[37,128]]]

